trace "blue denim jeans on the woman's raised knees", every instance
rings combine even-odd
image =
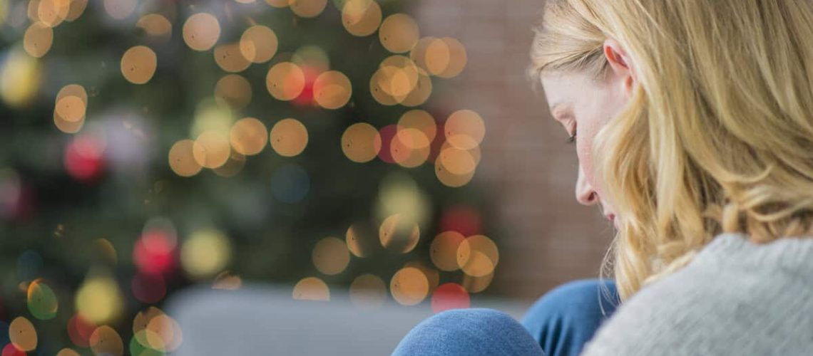
[[[539,298],[522,324],[493,309],[443,311],[416,325],[393,355],[576,356],[618,300],[615,283],[589,279],[559,285]]]

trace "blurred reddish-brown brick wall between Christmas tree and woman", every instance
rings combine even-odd
[[[492,292],[537,298],[555,285],[598,276],[612,228],[597,207],[576,202],[575,146],[550,118],[544,96],[525,79],[539,0],[416,0],[422,36],[452,36],[468,64],[455,109],[486,123],[483,158],[472,184],[492,193],[500,262]],[[449,97],[449,96],[447,96]]]

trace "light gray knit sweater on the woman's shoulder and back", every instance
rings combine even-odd
[[[813,238],[718,235],[624,302],[582,355],[813,355]]]

